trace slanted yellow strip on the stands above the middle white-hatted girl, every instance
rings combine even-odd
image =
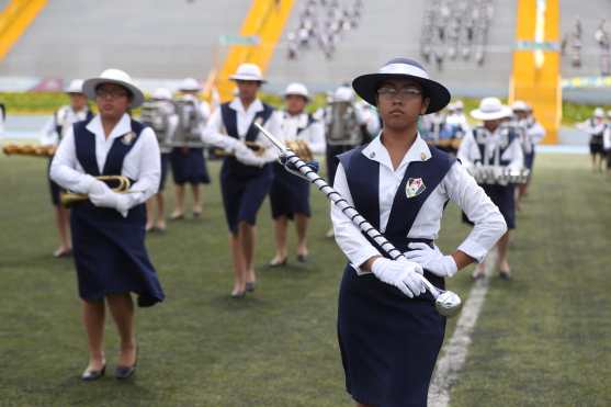
[[[222,101],[233,97],[234,82],[229,80],[237,67],[244,63],[257,64],[264,72],[273,55],[284,25],[288,20],[294,0],[252,0],[246,15],[240,35],[256,36],[254,45],[231,45],[222,68],[216,76],[216,87]]]

